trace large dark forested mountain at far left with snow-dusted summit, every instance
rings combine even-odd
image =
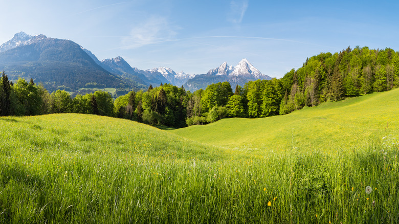
[[[137,86],[103,69],[71,40],[20,32],[1,47],[0,71],[7,71],[11,80],[32,78],[50,91],[65,89],[70,92],[86,86]]]

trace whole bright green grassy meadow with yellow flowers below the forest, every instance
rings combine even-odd
[[[0,222],[398,223],[397,99],[394,89],[167,131],[3,117]]]

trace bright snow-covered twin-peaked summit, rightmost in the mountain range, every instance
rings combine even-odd
[[[221,64],[219,68],[211,69],[207,75],[216,76],[240,76],[246,79],[271,79],[257,70],[247,59],[242,59],[236,66],[228,66],[227,62]]]

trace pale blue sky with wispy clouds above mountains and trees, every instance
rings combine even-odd
[[[350,46],[399,51],[397,1],[0,0],[0,43],[23,31],[70,39],[99,60],[204,74],[247,58],[281,78]]]

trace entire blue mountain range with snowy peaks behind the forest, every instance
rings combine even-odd
[[[122,57],[99,60],[91,51],[71,40],[31,36],[24,32],[0,46],[0,69],[12,80],[18,77],[42,82],[50,91],[65,89],[76,92],[82,88],[113,87],[146,89],[149,85],[171,83],[190,91],[209,84],[228,81],[232,88],[257,79],[271,79],[247,59],[236,66],[227,62],[207,74],[176,73],[170,68],[148,70],[132,68]]]

